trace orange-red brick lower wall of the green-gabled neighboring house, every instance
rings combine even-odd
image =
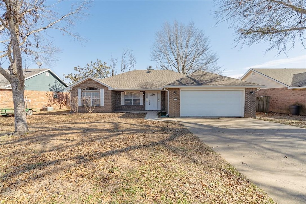
[[[24,97],[31,99],[28,103],[28,108],[40,108],[47,106],[49,97],[47,94],[52,94],[50,91],[29,91],[24,90]],[[69,100],[69,99],[68,99]],[[0,108],[13,108],[13,94],[10,89],[0,89]],[[53,105],[54,109],[58,109],[56,105]],[[66,107],[63,107],[66,109]]]

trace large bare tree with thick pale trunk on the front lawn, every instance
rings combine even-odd
[[[31,56],[33,60],[44,58],[52,54],[50,41],[43,36],[46,29],[54,28],[73,37],[80,37],[69,31],[69,27],[86,3],[72,5],[72,9],[61,15],[56,5],[60,3],[45,4],[45,0],[2,0],[0,1],[0,58],[9,60],[8,70],[2,68],[0,73],[10,82],[13,92],[15,109],[15,134],[28,132],[28,124],[24,106],[24,75],[23,54]],[[48,52],[49,50],[49,52]]]

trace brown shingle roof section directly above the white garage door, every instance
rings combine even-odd
[[[197,71],[175,80],[167,86],[258,86],[258,84],[209,72]]]

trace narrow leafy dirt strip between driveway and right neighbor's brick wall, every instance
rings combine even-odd
[[[263,121],[270,121],[286,125],[293,125],[300,128],[306,128],[306,116],[272,112],[257,112],[256,118]]]

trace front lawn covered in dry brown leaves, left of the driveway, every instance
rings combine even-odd
[[[274,203],[177,122],[145,113],[0,117],[0,203]]]

